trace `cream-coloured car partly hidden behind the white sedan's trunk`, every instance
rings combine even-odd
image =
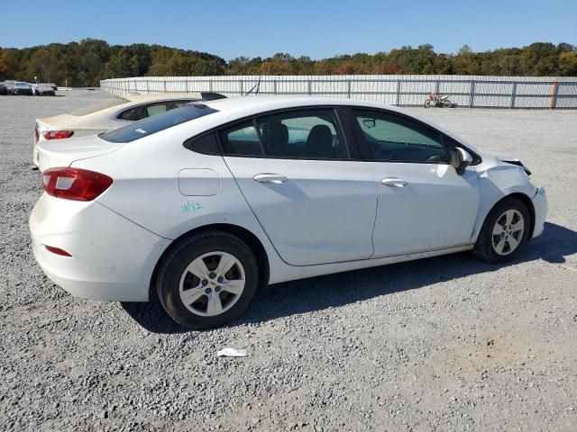
[[[32,148],[32,163],[38,166],[36,145],[44,140],[67,139],[72,136],[96,135],[121,128],[129,121],[138,121],[160,112],[178,108],[184,103],[224,97],[215,93],[193,94],[128,94],[106,98],[77,111],[36,119]]]

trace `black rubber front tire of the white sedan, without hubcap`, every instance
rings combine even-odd
[[[505,251],[506,255],[502,255],[497,252],[496,247],[494,246],[494,243],[499,239],[499,236],[493,235],[493,229],[497,222],[501,220],[503,214],[509,210],[517,211],[518,214],[521,215],[523,218],[524,229],[522,235],[518,238],[517,247],[510,252]],[[481,232],[479,233],[479,237],[475,243],[475,247],[472,250],[473,255],[487,263],[506,263],[512,260],[517,256],[519,250],[525,245],[525,243],[527,243],[531,223],[531,216],[527,209],[527,205],[524,202],[517,198],[506,198],[501,200],[491,209],[487,218],[485,218]]]

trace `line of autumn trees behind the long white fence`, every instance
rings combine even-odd
[[[0,81],[19,79],[70,86],[96,86],[101,79],[126,76],[447,74],[496,76],[577,76],[577,46],[536,42],[523,48],[456,54],[436,53],[429,44],[376,54],[338,55],[318,60],[277,53],[270,58],[238,57],[160,45],[109,45],[85,39],[32,48],[0,48]]]

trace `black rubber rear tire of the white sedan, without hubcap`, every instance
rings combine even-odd
[[[231,254],[241,263],[244,288],[230,309],[215,316],[201,316],[189,311],[182,302],[180,279],[193,260],[215,251]],[[163,257],[156,278],[156,288],[164,310],[170,318],[188,329],[210,329],[234,320],[247,308],[258,284],[259,267],[251,248],[241,239],[217,230],[199,232],[179,240]]]

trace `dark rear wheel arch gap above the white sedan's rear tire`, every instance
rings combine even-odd
[[[236,238],[240,238],[241,240],[243,240],[243,242],[246,243],[246,245],[251,248],[254,257],[256,258],[257,265],[259,266],[259,288],[263,288],[267,284],[269,284],[270,261],[267,251],[264,245],[262,245],[261,240],[249,229],[245,229],[239,225],[234,225],[230,223],[213,223],[209,225],[203,225],[195,229],[190,229],[189,231],[180,235],[178,238],[175,238],[170,243],[169,247],[167,247],[166,250],[162,252],[162,255],[160,255],[159,259],[156,262],[156,265],[154,266],[154,270],[152,271],[151,283],[149,285],[149,293],[148,293],[149,301],[152,298],[151,296],[156,295],[156,288],[154,284],[156,281],[156,276],[158,274],[158,269],[162,260],[169,254],[169,251],[172,250],[173,247],[176,247],[176,245],[179,243],[179,240],[181,240],[182,238],[187,238],[188,236],[197,234],[198,232],[208,230],[223,231],[233,235]]]

